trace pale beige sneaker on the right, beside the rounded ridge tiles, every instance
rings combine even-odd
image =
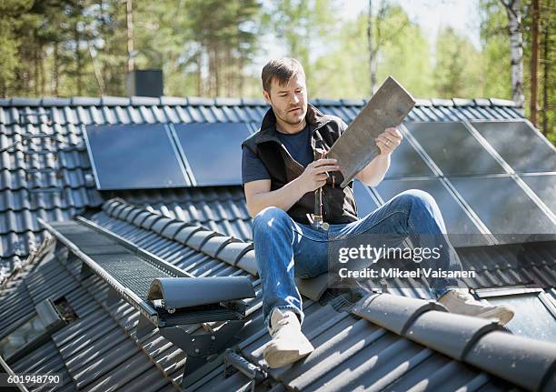
[[[477,301],[468,289],[451,289],[438,299],[452,313],[460,315],[491,318],[502,326],[508,323],[514,315],[511,307],[506,305],[491,305],[488,302]]]

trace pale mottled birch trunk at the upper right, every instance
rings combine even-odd
[[[502,5],[508,15],[508,31],[510,34],[511,57],[511,99],[517,106],[523,107],[523,36],[521,35],[521,1],[508,0]]]

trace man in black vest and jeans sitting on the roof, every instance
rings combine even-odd
[[[247,209],[253,217],[253,243],[263,280],[263,317],[272,340],[263,355],[269,367],[282,367],[313,351],[303,336],[302,298],[294,277],[311,277],[328,269],[328,244],[365,234],[399,236],[439,235],[442,257],[436,267],[461,270],[446,228],[431,195],[411,189],[392,197],[362,219],[357,218],[352,184],[341,188],[343,178],[326,151],[347,128],[342,119],[323,115],[307,104],[303,66],[293,58],[264,65],[263,96],[271,106],[261,129],[243,141],[243,184]],[[392,152],[402,142],[396,128],[387,128],[374,142],[380,149],[356,176],[367,186],[377,186],[390,166]],[[340,177],[339,177],[340,176]],[[325,226],[311,225],[316,189],[323,188]],[[430,244],[434,245],[434,244]],[[436,244],[437,246],[439,244]],[[430,279],[432,295],[449,311],[507,323],[509,307],[476,301],[461,282]]]

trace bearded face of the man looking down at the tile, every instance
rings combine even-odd
[[[263,91],[264,100],[273,106],[274,115],[286,124],[296,126],[307,114],[307,88],[303,75],[293,75],[287,85],[274,78],[270,94]]]

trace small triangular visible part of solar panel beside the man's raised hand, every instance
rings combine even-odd
[[[434,176],[431,168],[424,163],[407,139],[403,139],[400,146],[392,153],[390,167],[384,177],[403,176]]]

